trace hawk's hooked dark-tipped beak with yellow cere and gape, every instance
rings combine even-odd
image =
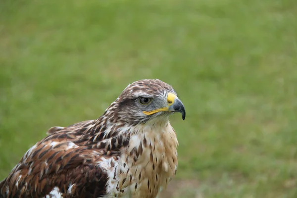
[[[186,118],[186,110],[183,102],[177,98],[174,94],[169,93],[167,96],[167,107],[158,108],[152,111],[143,111],[146,115],[151,115],[160,111],[171,111],[171,112],[180,112],[182,113],[182,118]]]

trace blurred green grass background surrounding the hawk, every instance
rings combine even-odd
[[[296,38],[296,0],[1,0],[0,180],[158,78],[187,110],[163,198],[296,198]]]

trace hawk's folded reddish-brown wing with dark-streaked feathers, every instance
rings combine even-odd
[[[56,130],[30,148],[0,183],[0,195],[4,198],[45,197],[57,187],[64,198],[103,196],[107,173],[98,164],[106,151],[79,141],[87,138],[82,137],[77,126],[87,123],[90,121]],[[70,131],[72,128],[76,130]],[[72,184],[71,192],[67,194]]]

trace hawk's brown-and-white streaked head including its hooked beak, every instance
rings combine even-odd
[[[107,108],[116,121],[136,125],[155,122],[154,118],[168,120],[169,115],[180,112],[186,117],[184,104],[174,89],[161,80],[139,80],[130,85]]]

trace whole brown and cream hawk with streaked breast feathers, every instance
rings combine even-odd
[[[0,182],[0,197],[155,198],[178,166],[174,112],[185,119],[170,85],[136,81],[98,119],[50,128]]]

